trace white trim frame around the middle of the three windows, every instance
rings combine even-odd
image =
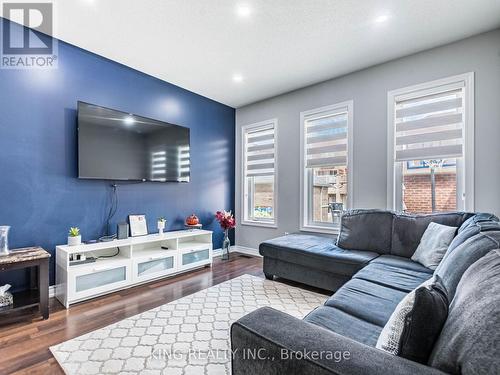
[[[306,166],[306,153],[304,148],[305,135],[304,123],[307,117],[320,114],[322,112],[334,112],[337,110],[345,110],[347,108],[347,208],[353,207],[353,144],[354,144],[354,101],[347,100],[345,102],[328,105],[325,107],[315,108],[308,111],[300,112],[300,225],[299,228],[303,232],[337,234],[339,228],[332,225],[310,224],[308,221],[309,212],[309,196],[308,196],[308,178]]]

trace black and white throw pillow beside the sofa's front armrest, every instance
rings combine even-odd
[[[423,282],[399,302],[382,329],[376,347],[427,363],[448,316],[446,289],[438,276]]]

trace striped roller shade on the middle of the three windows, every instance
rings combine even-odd
[[[306,168],[347,165],[348,113],[305,119]]]

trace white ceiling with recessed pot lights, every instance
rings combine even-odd
[[[56,3],[57,38],[232,107],[500,27],[500,0]]]

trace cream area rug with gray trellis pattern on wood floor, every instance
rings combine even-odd
[[[50,350],[66,374],[230,374],[230,326],[270,306],[297,318],[321,294],[243,275]]]

